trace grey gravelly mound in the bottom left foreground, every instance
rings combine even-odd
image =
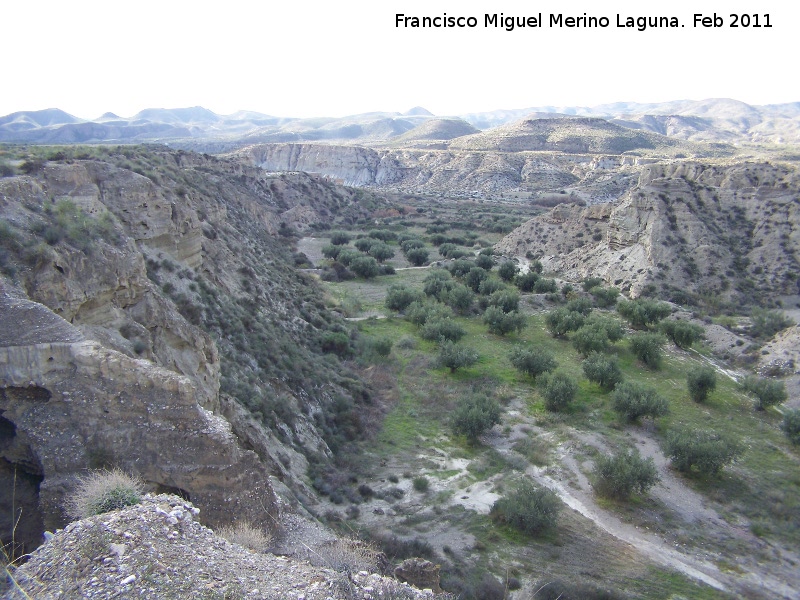
[[[251,552],[195,520],[177,496],[142,503],[59,530],[10,570],[5,598],[432,599],[405,583],[367,571],[315,567]]]

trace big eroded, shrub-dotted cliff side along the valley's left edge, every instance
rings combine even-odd
[[[210,521],[271,521],[269,476],[313,502],[308,461],[366,392],[321,352],[344,328],[284,231],[375,198],[182,152],[106,155],[0,179],[0,474],[30,475],[29,540],[60,522],[72,475],[106,464]]]

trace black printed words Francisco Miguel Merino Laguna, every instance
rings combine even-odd
[[[586,13],[581,16],[565,16],[563,13],[549,15],[550,27],[609,27],[611,20],[608,17],[593,17]],[[626,28],[636,28],[644,31],[653,27],[681,27],[677,17],[624,17],[616,15],[616,26]],[[412,28],[474,28],[480,21],[477,17],[453,17],[444,13],[436,17],[414,17],[401,13],[395,14],[395,27]],[[483,15],[484,27],[502,28],[506,31],[513,31],[517,28],[541,28],[544,25],[542,13],[536,16],[510,17],[503,13],[493,15]]]

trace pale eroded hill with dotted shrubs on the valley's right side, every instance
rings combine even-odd
[[[770,304],[797,293],[799,210],[792,166],[675,161],[642,167],[637,185],[612,203],[536,217],[497,248],[634,296]]]

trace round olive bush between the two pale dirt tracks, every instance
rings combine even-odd
[[[652,458],[643,459],[637,450],[621,450],[595,460],[594,490],[600,496],[625,500],[632,493],[646,494],[658,482]]]

